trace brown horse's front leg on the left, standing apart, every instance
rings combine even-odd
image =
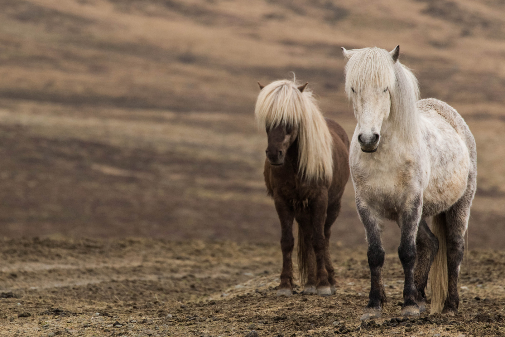
[[[277,296],[291,296],[293,291],[293,264],[291,254],[293,252],[293,209],[287,200],[275,195],[275,209],[281,222],[281,250],[282,250],[282,272],[281,283],[277,290]]]

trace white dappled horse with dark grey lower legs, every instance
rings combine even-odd
[[[428,273],[431,313],[458,312],[458,274],[464,234],[477,187],[475,140],[455,109],[435,99],[419,99],[412,72],[398,62],[399,46],[342,48],[345,91],[358,124],[349,165],[356,206],[368,240],[370,301],[362,320],[381,315],[381,223],[397,222],[398,255],[405,272],[402,315],[425,310]],[[433,233],[425,219],[433,217]],[[437,253],[438,252],[438,253]]]

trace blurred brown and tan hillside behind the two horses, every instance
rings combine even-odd
[[[257,81],[349,136],[340,46],[400,44],[478,144],[470,248],[505,240],[505,1],[0,0],[0,234],[268,240]],[[333,230],[364,243],[349,184]],[[386,243],[398,230],[386,226]]]

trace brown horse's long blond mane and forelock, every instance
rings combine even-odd
[[[256,101],[258,127],[291,125],[298,129],[298,173],[309,181],[333,178],[333,141],[330,130],[309,89],[298,90],[291,80],[265,86]]]

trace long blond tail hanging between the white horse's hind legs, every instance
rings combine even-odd
[[[433,217],[433,234],[438,238],[438,253],[430,269],[431,314],[441,313],[448,294],[447,241],[445,213]]]

